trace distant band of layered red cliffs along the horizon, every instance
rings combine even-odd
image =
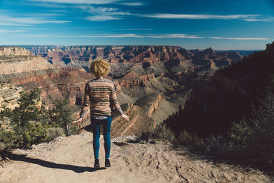
[[[188,51],[177,46],[24,46],[54,65],[75,66],[88,71],[88,63],[95,58],[105,58],[111,63],[141,64],[149,67],[169,60],[191,60],[194,64],[227,66],[242,58],[237,52],[215,52],[213,49]]]

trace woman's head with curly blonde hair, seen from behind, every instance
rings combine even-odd
[[[95,75],[95,77],[103,77],[108,75],[108,71],[110,71],[110,63],[106,62],[102,58],[97,58],[92,60],[90,64],[90,72]]]

